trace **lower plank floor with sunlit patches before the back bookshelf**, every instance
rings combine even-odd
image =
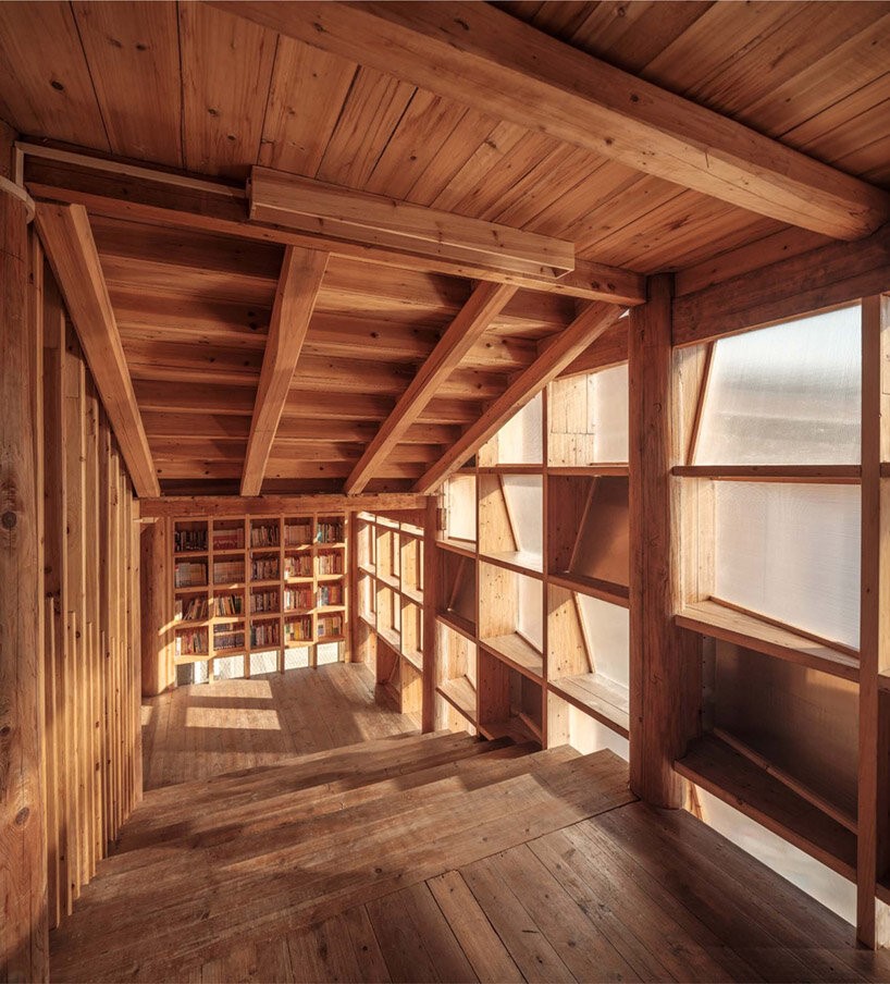
[[[383,691],[381,699],[385,699]],[[180,687],[143,701],[146,789],[270,765],[282,755],[341,748],[413,729],[375,703],[363,663]]]

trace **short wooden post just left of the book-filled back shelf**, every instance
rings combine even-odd
[[[168,638],[169,548],[165,519],[143,524],[140,542],[143,697],[157,697],[168,690],[174,681],[172,652]]]

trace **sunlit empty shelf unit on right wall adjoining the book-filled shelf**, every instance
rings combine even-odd
[[[359,513],[356,520],[356,651],[374,667],[378,687],[403,714],[423,703],[423,528]]]

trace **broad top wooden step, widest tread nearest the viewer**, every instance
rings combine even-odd
[[[55,934],[60,980],[165,979],[223,939],[262,942],[633,800],[611,752],[558,750],[499,763],[518,775],[477,789],[453,776],[341,814],[194,851],[166,876],[99,877]],[[313,826],[314,824],[314,826]],[[147,926],[158,965],[138,964]],[[164,965],[165,964],[165,965]]]

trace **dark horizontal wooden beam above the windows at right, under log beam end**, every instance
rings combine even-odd
[[[673,300],[673,344],[694,345],[890,290],[890,224]]]

